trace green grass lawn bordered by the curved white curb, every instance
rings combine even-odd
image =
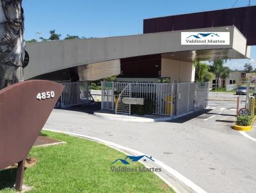
[[[31,150],[29,157],[38,158],[38,163],[24,174],[24,184],[33,187],[30,192],[174,192],[151,172],[111,172],[111,163],[125,155],[108,146],[64,134],[43,134],[67,144]],[[14,178],[15,169],[0,171],[1,193],[14,192],[6,188]]]

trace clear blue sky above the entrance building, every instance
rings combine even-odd
[[[143,33],[143,19],[247,5],[248,0],[23,0],[22,3],[26,40],[48,38],[51,29],[61,34],[61,38],[136,35]],[[256,0],[251,5],[256,5]],[[41,34],[36,35],[36,31]],[[256,46],[252,47],[250,60],[233,59],[225,65],[232,70],[243,70],[244,63],[256,68]]]

